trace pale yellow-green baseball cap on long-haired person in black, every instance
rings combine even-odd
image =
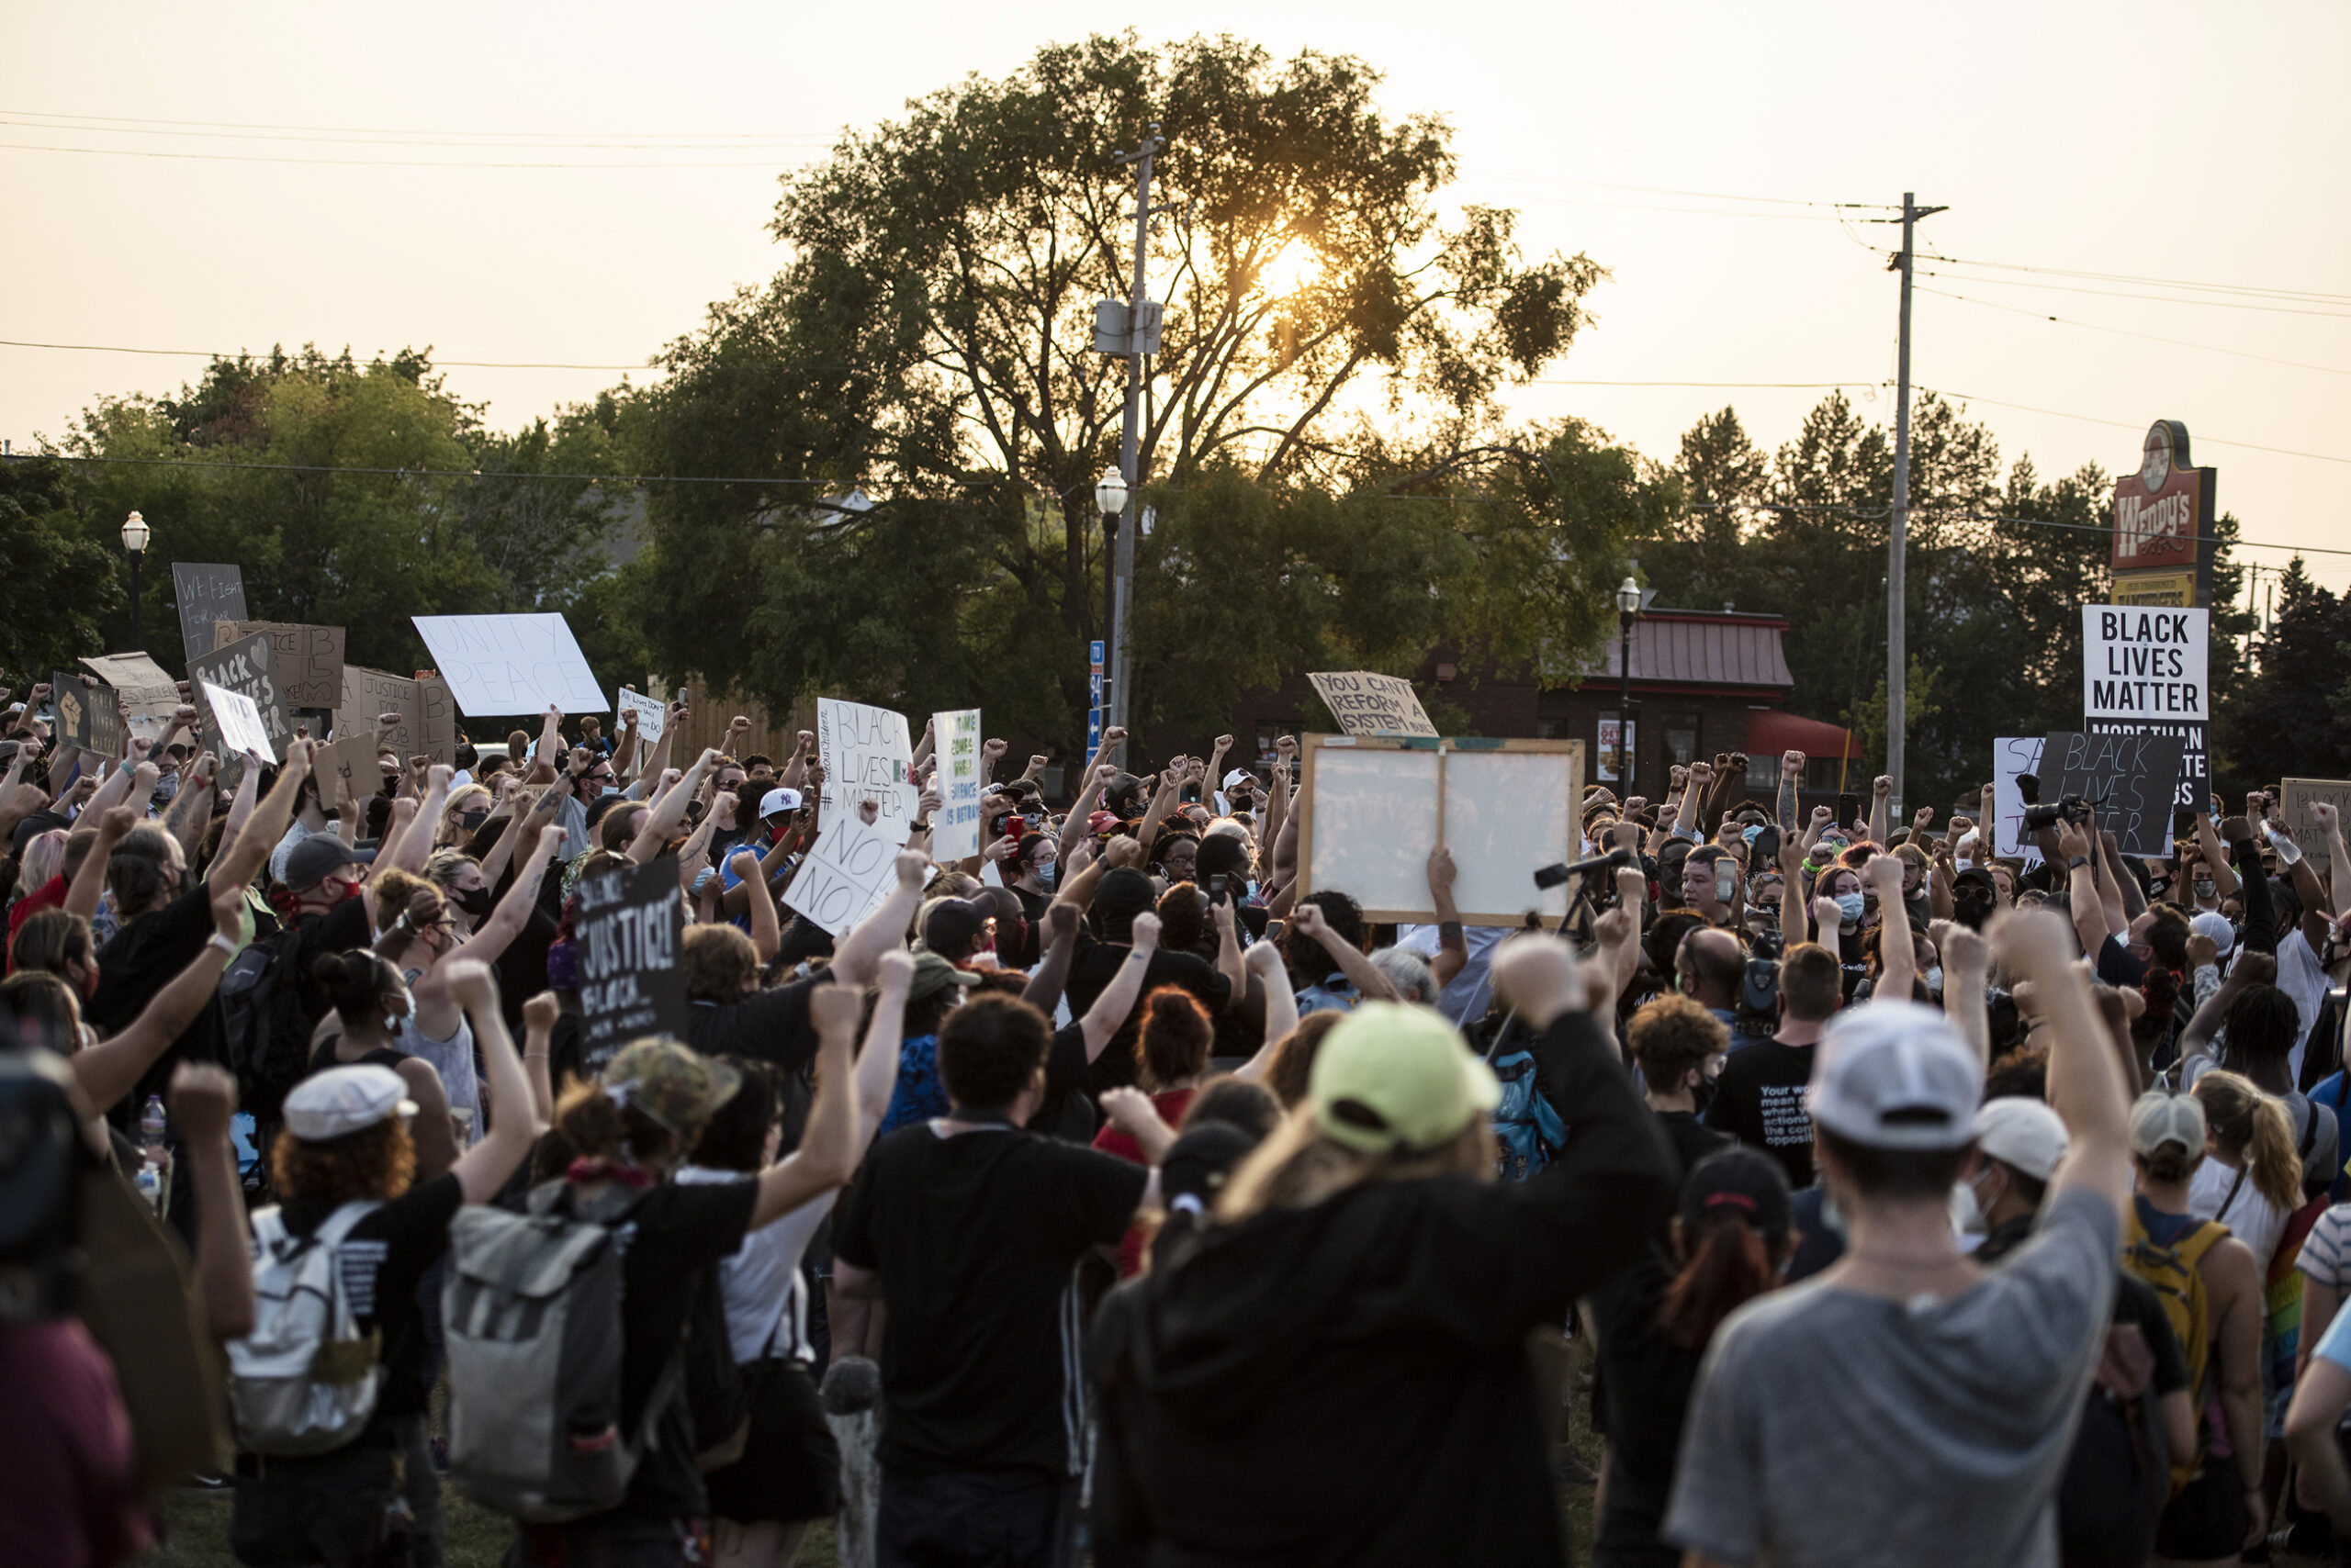
[[[1314,1053],[1314,1128],[1364,1154],[1434,1150],[1502,1103],[1493,1070],[1441,1013],[1366,1001]]]

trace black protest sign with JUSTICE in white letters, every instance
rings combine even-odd
[[[600,1072],[639,1034],[684,1034],[684,929],[677,856],[581,877],[571,919],[581,1067]]]

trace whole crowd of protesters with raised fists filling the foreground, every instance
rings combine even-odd
[[[1563,922],[1465,926],[1436,851],[1385,926],[1302,886],[1288,738],[1112,729],[1067,809],[987,741],[938,860],[924,736],[835,936],[783,905],[806,733],[550,710],[331,790],[49,696],[0,757],[0,1563],[127,1561],[165,1486],[336,1568],[440,1563],[444,1488],[536,1568],[835,1514],[893,1566],[1563,1563],[1578,1488],[1627,1566],[2351,1535],[2323,804],[2003,856],[1989,783],[1838,823],[1726,755],[1585,792],[1622,853]],[[686,1018],[590,1044],[581,886],[651,865]]]

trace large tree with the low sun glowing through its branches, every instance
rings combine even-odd
[[[1451,132],[1382,115],[1375,85],[1347,56],[1089,38],[788,176],[783,273],[717,303],[647,397],[647,468],[743,480],[651,496],[656,651],[771,701],[985,696],[1009,726],[1074,726],[1124,409],[1124,362],[1093,350],[1096,301],[1128,294],[1112,153],[1154,122],[1166,313],[1133,505],[1429,491],[1509,444],[1498,390],[1566,350],[1599,268],[1523,259],[1509,212],[1446,223]]]

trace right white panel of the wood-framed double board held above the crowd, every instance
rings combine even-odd
[[[1528,910],[1566,919],[1568,889],[1538,889],[1535,867],[1573,860],[1582,844],[1578,773],[1570,752],[1446,755],[1446,849],[1467,924],[1516,924]]]

